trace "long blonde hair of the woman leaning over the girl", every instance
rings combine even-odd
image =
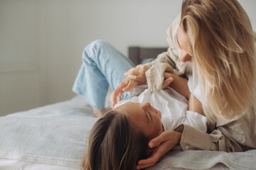
[[[255,33],[236,0],[186,0],[181,28],[193,50],[203,110],[211,120],[255,103]]]

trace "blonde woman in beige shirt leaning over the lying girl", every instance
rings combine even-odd
[[[155,164],[176,145],[183,150],[256,149],[255,33],[238,1],[183,1],[181,15],[167,31],[167,40],[167,52],[125,75],[140,83],[147,81],[154,93],[161,84],[168,84],[164,72],[172,72],[174,77],[185,74],[190,101],[202,103],[209,132],[189,125],[162,132],[149,142],[154,154],[140,160],[137,169]],[[113,91],[112,106],[117,96],[130,89],[122,81]]]

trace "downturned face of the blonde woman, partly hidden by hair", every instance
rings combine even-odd
[[[192,62],[192,50],[188,40],[188,35],[184,33],[181,26],[178,28],[177,44],[178,48],[181,49],[181,62]]]

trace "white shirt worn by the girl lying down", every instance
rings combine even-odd
[[[138,86],[138,89],[141,91],[142,86]],[[154,94],[151,94],[149,89],[145,89],[139,96],[120,101],[114,108],[127,102],[151,103],[151,106],[162,113],[164,130],[174,129],[181,124],[191,125],[203,132],[207,130],[206,117],[196,112],[186,111],[188,109],[188,100],[174,89],[171,89],[171,87],[166,87],[166,89]]]

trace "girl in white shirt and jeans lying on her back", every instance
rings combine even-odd
[[[96,40],[87,45],[82,61],[73,90],[94,108],[104,108],[108,84],[113,89],[120,81],[139,84],[138,81],[124,78],[124,73],[134,65],[108,42]],[[83,168],[136,169],[139,159],[146,158],[146,153],[152,152],[147,143],[164,130],[184,123],[206,132],[206,117],[201,107],[188,103],[187,98],[191,95],[188,80],[171,73],[166,73],[165,77],[169,83],[165,84],[164,90],[151,94],[146,84],[141,84],[129,94],[124,92],[122,101],[114,106],[114,111],[106,113],[95,123]],[[168,86],[170,83],[174,89],[182,89],[184,96],[171,89]],[[141,94],[131,98],[132,93]]]

